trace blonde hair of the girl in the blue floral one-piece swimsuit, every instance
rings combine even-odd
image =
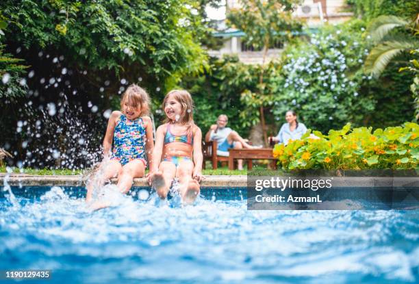
[[[125,101],[133,106],[141,108],[140,116],[145,116],[150,113],[150,96],[146,90],[133,83],[128,86],[127,90],[120,97],[120,109],[124,109]]]

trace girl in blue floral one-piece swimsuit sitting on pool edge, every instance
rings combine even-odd
[[[127,88],[120,99],[121,111],[112,112],[105,138],[103,139],[103,162],[99,167],[96,183],[87,185],[86,201],[92,199],[94,187],[101,187],[105,181],[118,177],[118,190],[127,192],[135,177],[143,177],[147,166],[145,153],[151,157],[153,152],[153,125],[149,113],[149,95],[133,84]],[[112,150],[112,141],[114,148]],[[151,159],[150,159],[151,160]],[[153,170],[153,164],[150,165]],[[99,179],[99,182],[98,182]],[[106,205],[103,205],[105,207]]]

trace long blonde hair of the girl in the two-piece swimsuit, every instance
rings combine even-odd
[[[179,122],[183,125],[187,125],[188,131],[192,130],[192,127],[194,126],[194,114],[193,114],[194,103],[192,101],[192,96],[190,96],[190,93],[186,90],[171,90],[164,97],[163,105],[162,105],[163,111],[164,111],[164,106],[166,105],[166,102],[170,95],[173,95],[175,100],[181,104],[182,113],[179,118]],[[164,122],[167,123],[171,121],[168,118],[166,118]]]

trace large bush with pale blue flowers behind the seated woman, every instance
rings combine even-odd
[[[400,125],[413,116],[411,76],[392,65],[380,79],[364,75],[368,49],[365,23],[326,26],[285,49],[274,89],[277,118],[288,109],[308,127],[328,131],[346,122],[355,126]]]

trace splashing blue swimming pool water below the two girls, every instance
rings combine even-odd
[[[81,188],[1,193],[0,268],[49,269],[47,283],[419,281],[418,210],[248,211],[239,188],[181,207],[140,190],[99,211]]]

